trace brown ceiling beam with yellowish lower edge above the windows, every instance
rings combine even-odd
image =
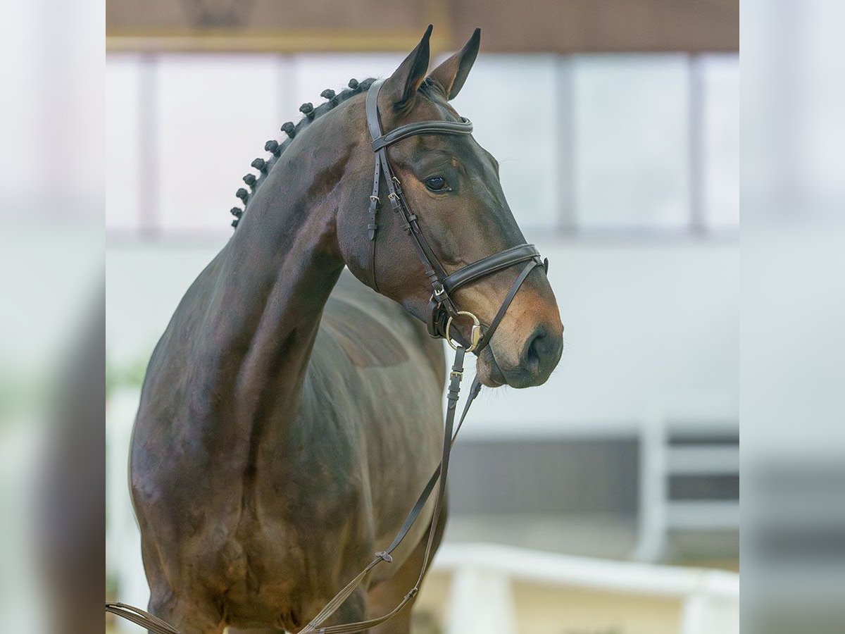
[[[739,50],[739,0],[107,0],[111,51]]]

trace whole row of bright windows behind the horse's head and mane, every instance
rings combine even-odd
[[[110,55],[108,230],[227,235],[241,178],[281,123],[401,59]],[[736,229],[738,102],[736,55],[493,54],[454,105],[499,160],[526,230],[639,235]]]

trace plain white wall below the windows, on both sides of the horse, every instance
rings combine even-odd
[[[546,385],[482,396],[466,433],[635,423],[655,407],[738,413],[738,244],[731,239],[542,239],[566,332]],[[106,260],[111,363],[149,356],[216,245],[128,243]]]

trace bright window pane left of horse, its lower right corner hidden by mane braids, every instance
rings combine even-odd
[[[161,227],[221,232],[240,205],[249,164],[279,139],[281,58],[272,55],[159,58],[158,178]]]

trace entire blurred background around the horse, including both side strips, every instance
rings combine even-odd
[[[319,90],[390,72],[387,58],[399,59],[432,22],[437,56],[475,26],[484,29],[482,56],[458,106],[502,161],[527,237],[553,257],[568,339],[548,386],[487,394],[474,411],[455,460],[461,503],[420,598],[418,631],[736,631],[728,478],[739,413],[742,631],[842,633],[845,4],[741,5],[739,249],[736,207],[713,204],[736,195],[735,186],[714,184],[732,160],[716,148],[732,138],[717,131],[731,125],[735,90],[716,98],[715,78],[725,63],[728,83],[736,80],[735,6],[477,4],[4,4],[5,629],[90,634],[103,622],[104,593],[144,604],[123,452],[150,346],[229,235],[226,210],[264,140],[296,118],[300,101],[318,102]],[[114,21],[121,7],[129,18]],[[363,24],[363,16],[373,19]],[[292,97],[290,86],[308,81],[296,68],[330,55],[343,72],[319,74],[313,89]],[[275,79],[266,86],[240,79],[267,68],[252,63],[259,59],[280,69],[268,73]],[[346,59],[362,63],[347,70]],[[507,59],[544,70],[513,79],[525,95],[509,82],[495,100],[474,105],[476,91],[489,88],[478,83],[484,64]],[[226,60],[248,63],[224,80]],[[645,62],[653,72],[645,73]],[[195,74],[192,94],[177,92],[193,76],[177,75],[179,63],[210,64]],[[613,68],[625,70],[609,81]],[[143,106],[121,90],[149,101]],[[199,106],[197,91],[209,95]],[[485,119],[499,107],[558,122],[530,146],[549,161],[555,156],[551,180],[529,186],[518,177],[525,156],[513,148],[527,144],[513,138],[510,118]],[[230,113],[204,119],[218,108]],[[184,125],[195,120],[199,131],[172,123],[174,110],[191,112]],[[720,111],[727,116],[714,118]],[[126,120],[139,121],[134,131]],[[209,151],[218,138],[226,151]],[[174,158],[167,144],[183,154]],[[658,165],[660,181],[646,173]],[[203,171],[209,178],[200,180]],[[729,183],[733,172],[723,173]],[[183,190],[175,178],[194,196],[215,194],[202,209],[176,204]],[[737,309],[739,371],[730,361]],[[520,403],[529,408],[516,413]],[[502,457],[510,446],[521,460]]]

